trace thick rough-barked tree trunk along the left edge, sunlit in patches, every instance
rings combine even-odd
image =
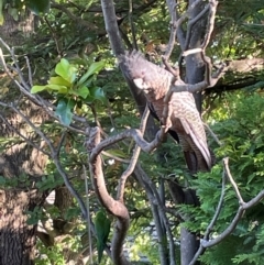
[[[22,45],[33,33],[34,23],[34,15],[28,11],[21,12],[18,20],[4,13],[0,36],[10,46]],[[24,98],[2,73],[1,84],[7,86],[7,90],[1,90],[2,102],[12,103],[35,126],[47,120],[43,110]],[[0,146],[0,176],[6,179],[0,187],[0,265],[34,264],[36,225],[28,225],[26,220],[29,211],[42,206],[45,199],[35,183],[43,176],[47,157],[19,134],[44,147],[44,142],[18,112],[1,107],[0,137],[13,139],[13,143]]]

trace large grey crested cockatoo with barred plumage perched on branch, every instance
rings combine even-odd
[[[146,60],[138,51],[121,54],[119,66],[123,75],[144,92],[154,118],[163,121],[164,98],[170,86],[175,85],[175,76]],[[194,95],[188,91],[174,92],[169,108],[168,133],[180,144],[188,169],[191,174],[209,172],[212,158]]]

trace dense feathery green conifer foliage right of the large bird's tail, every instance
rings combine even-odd
[[[222,114],[219,114],[222,113]],[[230,170],[245,201],[263,187],[264,176],[264,98],[258,93],[226,95],[224,102],[210,117],[213,132],[220,135],[222,146],[215,148],[217,157],[230,157]],[[221,117],[221,119],[219,119]],[[217,121],[218,120],[218,121]],[[212,219],[221,194],[223,166],[219,162],[211,173],[198,174],[193,181],[200,198],[200,208],[183,207],[190,219],[185,225],[194,232],[205,231]],[[224,202],[211,236],[218,236],[233,220],[239,202],[227,180]],[[205,264],[263,263],[263,202],[249,209],[237,229],[220,244],[201,256]],[[199,223],[199,225],[197,225]]]

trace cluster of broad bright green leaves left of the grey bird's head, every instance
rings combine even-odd
[[[92,103],[95,100],[106,102],[106,97],[101,88],[92,86],[96,74],[102,69],[103,62],[92,63],[87,71],[81,73],[81,65],[70,64],[62,58],[55,67],[57,76],[51,77],[45,86],[33,86],[32,93],[47,91],[57,99],[56,114],[63,124],[69,125],[75,108],[82,103]]]

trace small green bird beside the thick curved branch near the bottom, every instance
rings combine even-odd
[[[108,219],[103,210],[99,210],[96,213],[94,222],[97,236],[98,264],[100,264],[110,233],[111,221]]]

